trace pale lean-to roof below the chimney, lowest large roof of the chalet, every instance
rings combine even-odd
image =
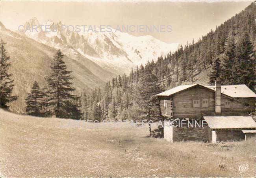
[[[251,116],[204,116],[211,129],[248,129],[256,128]]]

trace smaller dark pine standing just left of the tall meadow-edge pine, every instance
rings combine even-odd
[[[43,92],[41,91],[39,85],[35,81],[30,93],[28,93],[28,97],[26,98],[26,113],[28,115],[43,116],[43,96]]]

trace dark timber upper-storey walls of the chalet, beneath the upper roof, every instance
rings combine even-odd
[[[168,118],[196,118],[202,113],[215,112],[215,92],[196,86],[172,96],[159,96],[161,115]],[[202,99],[208,99],[208,107],[202,107]],[[167,107],[164,107],[164,101],[167,100]],[[171,100],[173,100],[173,109],[171,109]],[[200,107],[193,107],[193,100],[200,100]],[[242,102],[247,102],[250,106],[245,106]],[[248,112],[255,110],[255,98],[237,98],[234,100],[224,94],[221,95],[221,113]],[[225,106],[226,102],[230,102],[230,108]],[[245,109],[246,108],[246,109]],[[173,117],[172,114],[173,113]]]

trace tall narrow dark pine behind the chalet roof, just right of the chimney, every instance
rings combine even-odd
[[[221,80],[225,85],[230,85],[234,83],[234,77],[236,77],[235,74],[233,73],[235,58],[236,44],[234,36],[231,35],[225,47],[223,67],[221,71]]]

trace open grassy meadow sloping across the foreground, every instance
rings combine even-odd
[[[7,177],[256,175],[255,140],[171,144],[148,138],[148,128],[61,128],[63,121],[69,120],[0,110],[0,173]],[[249,164],[249,170],[239,174],[241,164]]]

